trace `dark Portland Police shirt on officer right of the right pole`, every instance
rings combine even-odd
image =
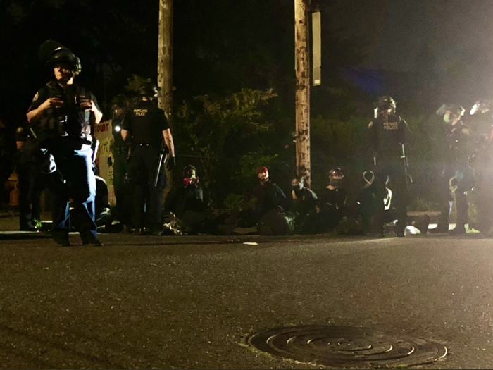
[[[389,116],[385,121],[376,118],[368,125],[373,150],[386,157],[401,157],[401,144],[408,142],[408,127],[406,121],[399,116]]]

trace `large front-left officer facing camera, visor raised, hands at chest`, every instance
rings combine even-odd
[[[27,120],[39,130],[42,153],[49,158],[49,187],[54,192],[53,229],[58,245],[68,246],[73,199],[83,245],[101,245],[94,221],[96,180],[92,169],[91,121],[103,116],[94,95],[74,81],[80,60],[72,51],[52,40],[40,47],[40,56],[53,68],[54,79],[32,99]]]

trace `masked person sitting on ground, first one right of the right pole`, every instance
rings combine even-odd
[[[327,233],[333,230],[344,216],[347,190],[344,188],[344,173],[340,167],[329,172],[329,185],[318,196],[316,209],[318,213],[318,231]]]

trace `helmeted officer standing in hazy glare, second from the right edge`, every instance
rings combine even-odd
[[[474,185],[473,173],[469,168],[469,128],[461,118],[464,114],[462,106],[444,104],[437,114],[443,116],[444,124],[440,128],[437,147],[440,148],[439,195],[441,215],[437,232],[449,231],[449,214],[452,200],[456,199],[457,225],[450,230],[452,235],[466,233],[468,223],[468,200],[466,192]]]

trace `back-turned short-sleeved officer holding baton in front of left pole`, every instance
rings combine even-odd
[[[141,100],[127,112],[121,130],[123,140],[132,137],[129,175],[134,197],[133,226],[135,235],[144,235],[146,215],[151,232],[158,235],[163,229],[162,199],[166,186],[164,168],[159,164],[160,154],[163,149],[168,150],[170,158],[166,166],[172,171],[176,165],[175,144],[165,113],[155,101],[158,97],[157,87],[146,82],[140,87],[139,93]]]

